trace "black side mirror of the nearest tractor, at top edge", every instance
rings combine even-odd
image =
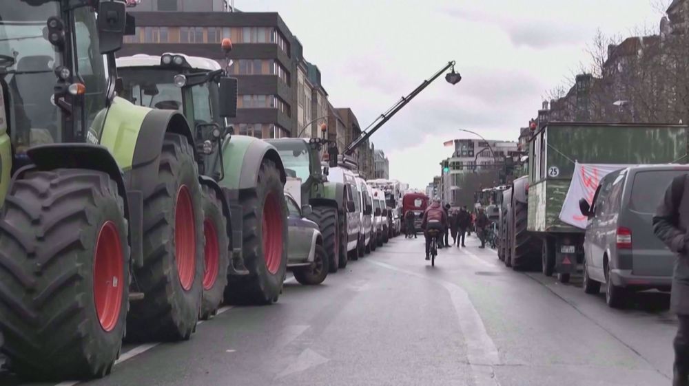
[[[122,48],[127,31],[127,6],[121,1],[101,1],[98,4],[98,39],[101,54]]]

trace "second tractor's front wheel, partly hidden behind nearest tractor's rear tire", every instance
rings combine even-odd
[[[218,312],[227,286],[229,251],[232,250],[227,236],[227,219],[223,204],[216,191],[203,186],[203,294],[201,295],[201,319],[209,319]]]

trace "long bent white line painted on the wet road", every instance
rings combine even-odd
[[[420,279],[431,279],[418,272],[398,268],[380,261],[369,259],[364,261]],[[462,334],[464,334],[464,341],[466,341],[466,359],[471,368],[474,384],[476,386],[499,386],[500,382],[497,380],[497,374],[495,374],[493,367],[500,365],[500,355],[497,352],[495,343],[493,343],[493,339],[486,332],[486,326],[483,324],[480,314],[474,308],[473,303],[471,303],[469,294],[464,288],[457,286],[455,283],[435,278],[433,278],[433,282],[443,286],[450,294],[453,308],[455,308],[455,313],[457,314],[457,320],[460,323],[460,329]]]

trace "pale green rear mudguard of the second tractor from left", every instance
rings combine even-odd
[[[220,186],[232,191],[254,189],[258,170],[265,158],[275,163],[280,171],[280,180],[285,184],[285,167],[282,166],[282,159],[273,145],[254,137],[231,136],[223,144],[225,178],[219,182]]]

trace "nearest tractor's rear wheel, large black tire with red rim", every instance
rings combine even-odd
[[[203,200],[192,145],[165,134],[156,189],[143,201],[144,297],[132,302],[127,341],[186,340],[196,329],[203,279]]]

